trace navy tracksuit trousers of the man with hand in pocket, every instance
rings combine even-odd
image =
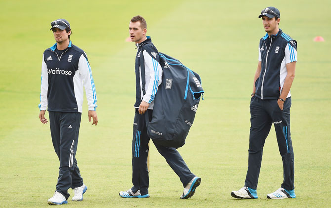
[[[245,186],[255,190],[257,188],[264,142],[274,123],[279,153],[283,161],[284,180],[281,187],[287,190],[294,189],[294,153],[290,134],[291,104],[292,100],[289,97],[285,100],[284,108],[281,110],[277,99],[261,100],[256,96],[251,98],[249,157]]]

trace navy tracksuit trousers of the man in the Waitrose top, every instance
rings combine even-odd
[[[68,189],[83,185],[75,158],[82,113],[49,111],[53,146],[60,160],[56,191],[68,199]]]

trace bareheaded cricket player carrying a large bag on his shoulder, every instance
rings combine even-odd
[[[135,59],[136,103],[134,107],[136,109],[132,141],[133,187],[127,191],[121,191],[119,195],[125,198],[146,198],[149,197],[147,156],[149,151],[148,142],[150,140],[147,136],[146,119],[150,121],[152,118],[154,98],[158,86],[161,84],[162,67],[160,65],[159,52],[153,45],[151,38],[146,36],[147,23],[142,16],[135,16],[131,19],[129,32],[131,40],[136,43],[138,49]],[[140,62],[141,56],[143,56],[144,63]],[[142,74],[145,74],[145,86],[142,86]],[[164,147],[156,143],[154,145],[183,183],[184,191],[180,198],[187,199],[193,196],[201,182],[201,178],[191,173],[175,148]]]

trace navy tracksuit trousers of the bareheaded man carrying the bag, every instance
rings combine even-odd
[[[148,119],[151,121],[153,110],[147,110]],[[146,115],[140,115],[138,109],[135,111],[133,123],[133,140],[132,140],[132,183],[133,193],[140,190],[141,195],[148,194],[149,177],[147,169],[148,142]],[[154,143],[154,142],[153,142]],[[195,175],[191,173],[182,156],[176,148],[164,147],[154,143],[156,149],[165,158],[172,170],[179,176],[180,181],[185,187]]]

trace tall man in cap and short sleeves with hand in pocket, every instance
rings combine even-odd
[[[297,42],[278,28],[280,12],[275,7],[262,10],[264,30],[260,39],[259,61],[254,77],[250,101],[250,136],[248,170],[245,185],[231,196],[240,199],[257,199],[265,139],[274,124],[277,143],[283,161],[281,188],[267,195],[268,199],[295,198],[294,153],[290,134],[291,93],[297,61]]]

